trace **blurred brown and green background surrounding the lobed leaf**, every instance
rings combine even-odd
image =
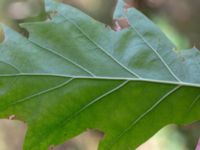
[[[95,19],[113,26],[117,0],[60,0],[73,5]],[[178,49],[200,49],[200,0],[127,0],[126,7],[136,7],[150,17]],[[43,21],[47,14],[42,0],[0,0],[0,22],[27,35],[22,22]],[[0,29],[0,41],[3,41]],[[0,150],[22,150],[26,125],[0,119]],[[97,150],[103,133],[89,130],[55,150]],[[200,123],[188,126],[169,125],[161,129],[137,150],[194,150],[200,137]],[[199,149],[198,149],[199,150]]]

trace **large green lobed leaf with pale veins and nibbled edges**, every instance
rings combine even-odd
[[[25,150],[45,150],[87,128],[99,150],[134,149],[170,123],[200,118],[200,54],[175,46],[129,9],[115,32],[79,10],[47,1],[52,20],[3,27],[0,117],[27,123]]]

